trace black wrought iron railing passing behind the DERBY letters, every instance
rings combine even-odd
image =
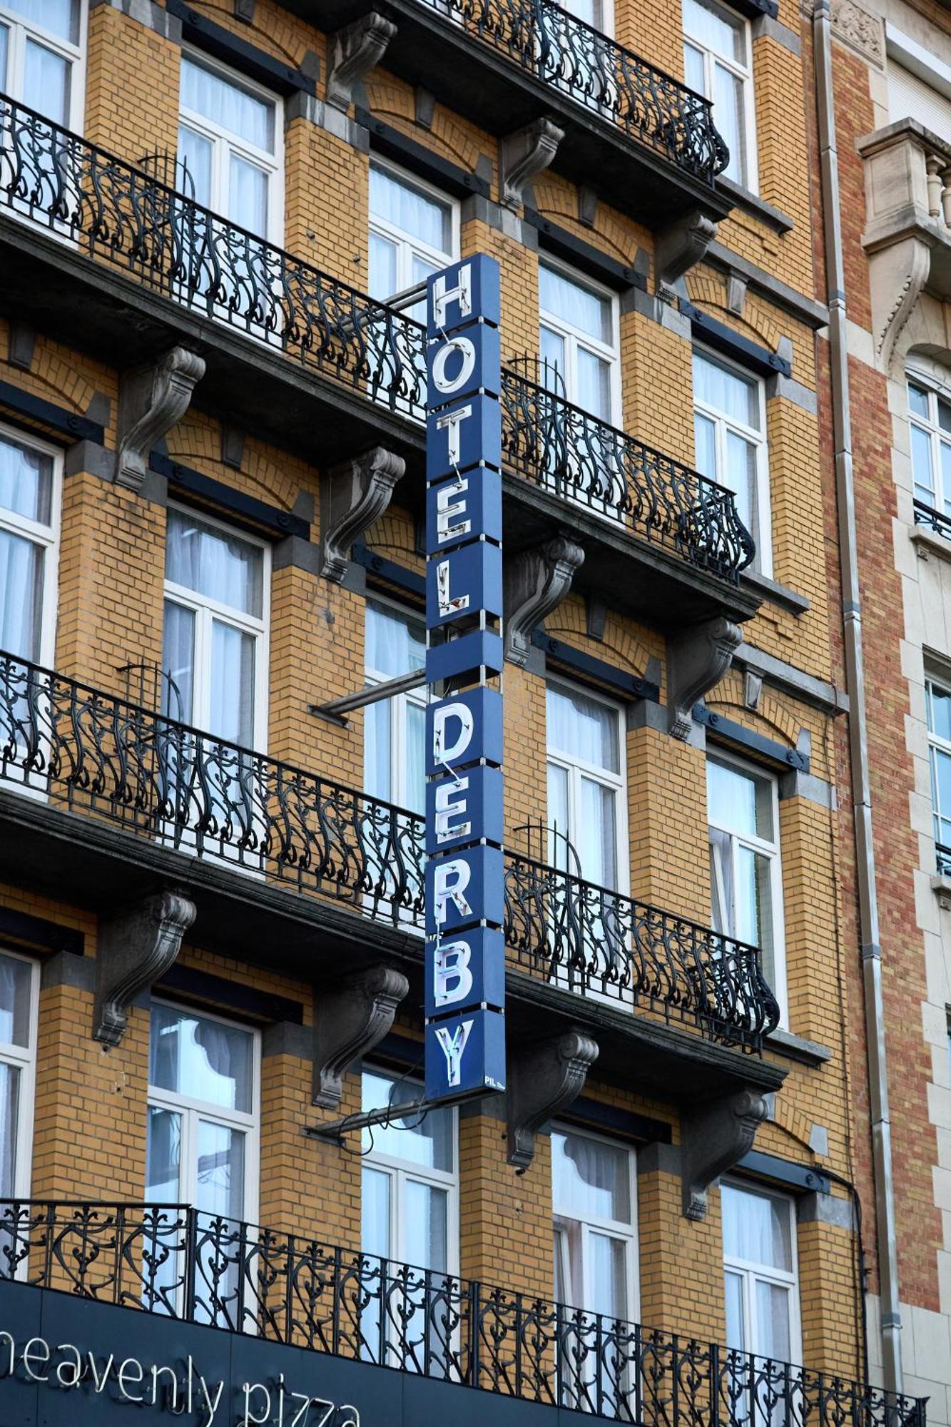
[[[0,786],[423,929],[416,813],[0,654]],[[758,1050],[778,1020],[754,946],[505,853],[514,965]]]

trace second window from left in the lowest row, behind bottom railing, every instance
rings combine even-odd
[[[260,1042],[257,1032],[163,1002],[151,1003],[146,1202],[190,1204],[200,1216],[257,1219]],[[207,1220],[200,1217],[200,1229]],[[230,1226],[237,1227],[237,1226]],[[203,1263],[206,1256],[207,1263]],[[156,1289],[176,1300],[181,1250],[158,1264]],[[198,1236],[196,1280],[207,1319],[234,1306],[240,1264],[221,1273],[214,1236]],[[180,1307],[180,1306],[178,1306]]]

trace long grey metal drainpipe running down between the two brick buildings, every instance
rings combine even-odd
[[[848,741],[855,819],[862,982],[865,992],[865,1039],[868,1042],[872,1176],[875,1183],[878,1286],[881,1296],[881,1346],[882,1363],[885,1366],[885,1387],[900,1393],[902,1390],[901,1304],[898,1297],[898,1254],[895,1249],[895,1202],[891,1169],[885,1009],[881,989],[881,945],[878,940],[878,895],[875,890],[875,846],[872,842],[872,808],[868,783],[865,664],[862,656],[858,551],[855,545],[855,485],[852,478],[838,154],[835,150],[835,111],[832,107],[832,16],[830,0],[815,0],[812,39],[822,188],[822,231],[825,235],[825,281],[830,310],[828,345],[832,380],[835,495],[845,635],[845,686],[850,701]]]

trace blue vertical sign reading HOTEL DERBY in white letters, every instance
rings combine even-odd
[[[505,1089],[498,264],[427,278],[426,1097]]]

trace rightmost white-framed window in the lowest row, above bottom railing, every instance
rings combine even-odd
[[[792,1200],[733,1183],[723,1184],[721,1196],[727,1347],[797,1363],[801,1344]]]

